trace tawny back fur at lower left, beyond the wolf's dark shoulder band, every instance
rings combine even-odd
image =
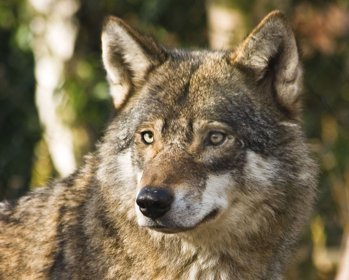
[[[0,279],[37,279],[53,261],[67,188],[58,181],[0,203]]]

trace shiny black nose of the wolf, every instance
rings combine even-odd
[[[145,187],[136,199],[139,210],[146,217],[157,219],[171,208],[172,196],[163,188]]]

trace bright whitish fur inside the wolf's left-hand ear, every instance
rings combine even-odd
[[[131,73],[128,71],[131,70],[134,80],[139,81],[150,66],[150,61],[136,40],[116,22],[109,22],[103,30],[102,58],[110,94],[114,105],[118,107],[125,101],[131,87]],[[124,63],[127,63],[129,69]]]

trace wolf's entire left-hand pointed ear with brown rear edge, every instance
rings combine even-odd
[[[110,94],[120,107],[148,72],[166,59],[164,48],[117,17],[107,17],[102,31],[102,57]]]

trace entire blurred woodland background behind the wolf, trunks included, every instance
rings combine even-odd
[[[2,0],[0,200],[69,174],[94,150],[111,112],[101,62],[112,14],[164,44],[234,48],[270,11],[302,49],[304,120],[318,200],[288,279],[348,280],[349,0]]]

